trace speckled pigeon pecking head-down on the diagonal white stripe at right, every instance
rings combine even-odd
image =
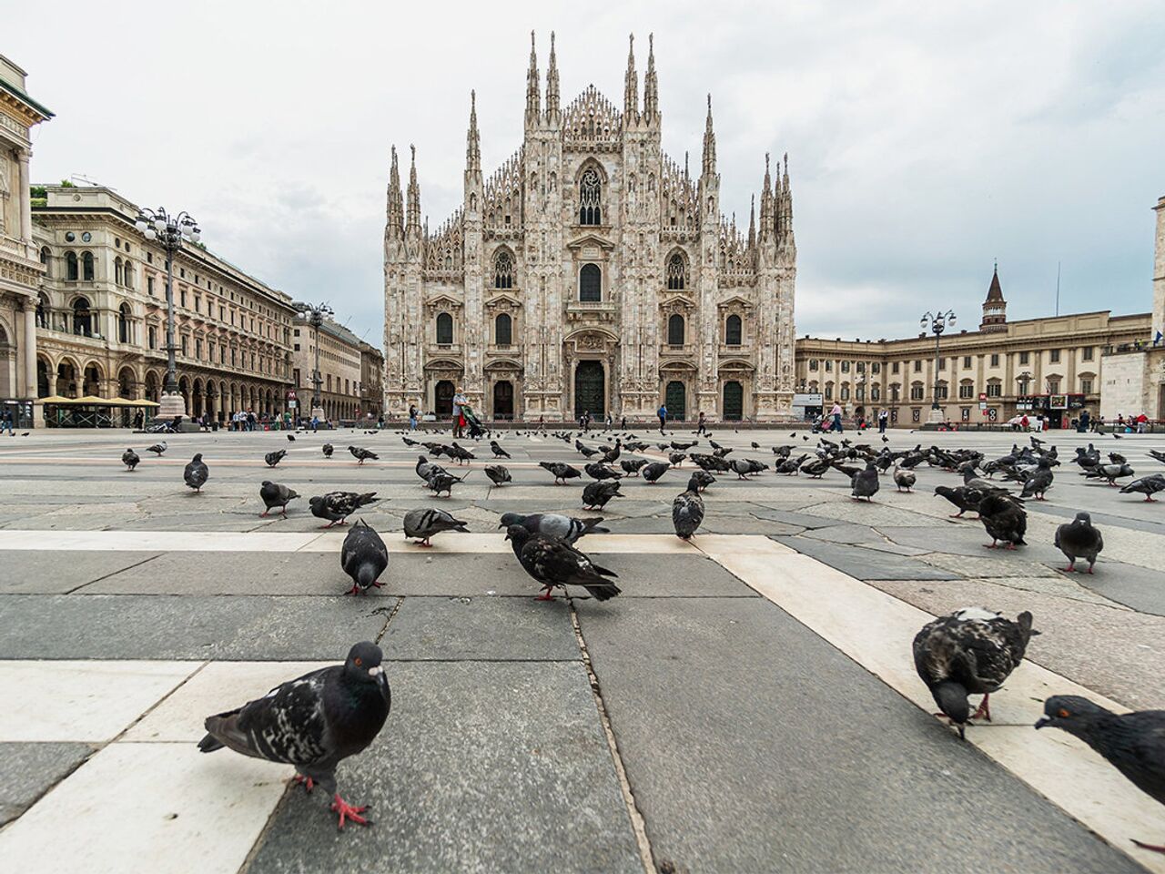
[[[983,607],[963,607],[927,622],[915,636],[915,669],[934,696],[941,714],[959,726],[965,738],[968,719],[991,720],[988,697],[997,691],[1019,662],[1033,634],[1031,613],[1016,621]],[[968,695],[982,695],[970,714]]]

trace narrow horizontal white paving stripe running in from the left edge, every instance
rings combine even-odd
[[[108,552],[339,552],[346,529],[329,531],[65,531],[0,530],[0,551],[86,550]],[[504,534],[438,535],[432,547],[417,547],[397,531],[386,534],[390,552],[509,552]],[[704,535],[711,540],[718,535]],[[779,544],[774,544],[779,547]],[[642,552],[698,556],[696,545],[671,534],[594,534],[582,542],[586,552]],[[784,549],[784,548],[782,548]],[[791,550],[790,550],[791,551]]]

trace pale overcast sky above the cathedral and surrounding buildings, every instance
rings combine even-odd
[[[189,210],[203,240],[381,341],[389,145],[422,210],[458,204],[469,89],[488,175],[520,145],[530,30],[563,104],[622,107],[627,36],[655,33],[664,148],[699,167],[712,92],[721,205],[747,224],[789,151],[797,329],[898,337],[927,308],[977,325],[1151,309],[1165,195],[1165,16],[1120,3],[22,2],[0,52],[56,113],[34,181],[75,174]],[[642,89],[642,85],[641,85]],[[642,93],[642,91],[641,91]]]

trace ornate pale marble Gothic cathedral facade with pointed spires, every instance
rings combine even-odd
[[[747,231],[721,212],[708,98],[699,177],[663,153],[655,55],[640,100],[634,40],[623,110],[588,86],[560,105],[531,38],[524,139],[489,177],[475,99],[465,197],[422,224],[416,150],[396,149],[384,227],[384,395],[447,416],[463,388],[487,418],[584,411],[784,418],[795,368],[797,248],[788,157]]]

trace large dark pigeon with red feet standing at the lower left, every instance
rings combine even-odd
[[[236,753],[294,764],[296,782],[310,792],[316,783],[332,796],[332,811],[345,820],[370,825],[365,808],[340,797],[336,766],[363,750],[388,719],[391,691],[381,667],[383,655],[363,641],[332,665],[277,685],[262,698],[206,718],[204,753],[230,747]]]

